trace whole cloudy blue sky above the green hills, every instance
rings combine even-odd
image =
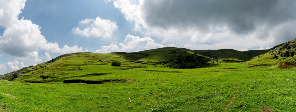
[[[295,0],[1,0],[0,75],[75,52],[270,49],[296,38]]]

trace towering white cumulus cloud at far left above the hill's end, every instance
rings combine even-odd
[[[38,52],[72,53],[82,51],[81,47],[67,45],[59,48],[58,43],[48,42],[41,34],[40,26],[30,20],[18,19],[18,15],[25,7],[26,0],[4,0],[0,4],[0,26],[5,30],[0,35],[0,50],[24,62],[37,62]],[[9,67],[8,67],[9,68]]]

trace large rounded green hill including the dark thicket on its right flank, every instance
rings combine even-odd
[[[118,61],[121,66],[112,67],[113,61]],[[166,47],[108,54],[79,52],[63,54],[48,62],[1,75],[0,79],[37,83],[61,82],[69,78],[110,74],[114,69],[127,70],[147,66],[201,68],[213,65],[218,65],[218,61],[185,48]]]

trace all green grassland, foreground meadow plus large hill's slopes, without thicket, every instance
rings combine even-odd
[[[0,80],[0,111],[296,111],[296,58],[271,54],[244,63],[221,63],[184,48],[64,54],[2,75],[12,81]],[[187,55],[202,57],[206,66],[170,66]]]

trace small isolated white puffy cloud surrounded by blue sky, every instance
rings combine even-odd
[[[116,21],[104,20],[100,17],[79,21],[79,26],[72,29],[75,35],[108,39],[118,28]]]

